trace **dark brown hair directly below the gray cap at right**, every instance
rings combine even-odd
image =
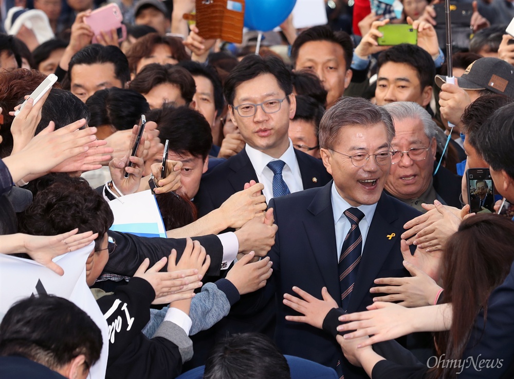
[[[483,95],[466,107],[461,117],[462,132],[466,134],[467,142],[478,151],[479,142],[477,140],[477,131],[483,128],[483,125],[495,110],[514,103],[514,99],[508,96],[493,93]]]

